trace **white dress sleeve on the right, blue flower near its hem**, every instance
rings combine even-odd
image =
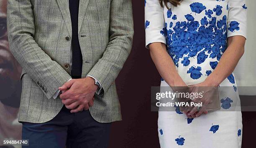
[[[246,38],[247,7],[246,0],[229,0],[228,2],[228,37],[241,35]]]

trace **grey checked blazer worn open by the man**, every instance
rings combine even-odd
[[[71,78],[72,25],[67,0],[8,0],[10,50],[23,67],[19,121],[44,123],[63,104],[52,96]],[[80,0],[82,78],[92,75],[103,91],[90,108],[101,123],[121,120],[115,78],[131,52],[131,0]]]

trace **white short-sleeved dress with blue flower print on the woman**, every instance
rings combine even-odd
[[[245,0],[182,0],[161,8],[159,0],[145,0],[146,47],[166,44],[177,72],[187,85],[203,82],[227,48],[227,38],[246,38]],[[161,86],[168,86],[162,80]],[[161,148],[241,148],[241,111],[233,73],[220,86],[221,110],[188,119],[174,111],[159,111]],[[240,108],[240,107],[239,107]]]

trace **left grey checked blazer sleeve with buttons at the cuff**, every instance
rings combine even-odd
[[[44,86],[46,97],[52,98],[71,76],[35,42],[31,0],[8,0],[7,27],[10,51],[31,79]]]

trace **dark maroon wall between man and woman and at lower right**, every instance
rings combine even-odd
[[[123,121],[113,123],[109,148],[159,148],[158,114],[151,112],[150,90],[160,85],[161,77],[145,48],[143,0],[132,2],[133,49],[116,80]],[[243,112],[243,148],[254,143],[255,117],[255,112]]]

